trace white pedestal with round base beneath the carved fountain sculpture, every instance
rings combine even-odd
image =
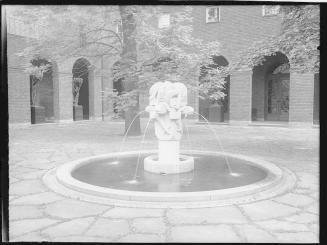
[[[179,141],[159,140],[158,156],[144,159],[144,170],[158,174],[177,174],[192,171],[194,159],[179,154]]]

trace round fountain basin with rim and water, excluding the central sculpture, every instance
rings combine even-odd
[[[143,159],[153,153],[156,151],[141,152],[140,161],[139,152],[73,161],[49,171],[44,181],[49,188],[71,197],[142,207],[244,203],[281,194],[295,183],[287,169],[221,152],[184,151],[183,155],[194,159],[194,170],[187,173],[161,175],[144,171]]]

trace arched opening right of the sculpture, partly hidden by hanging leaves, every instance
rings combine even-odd
[[[228,61],[224,56],[214,56],[212,57],[214,65],[216,67],[227,67]],[[201,75],[199,81],[201,83],[202,77],[205,75],[205,68],[201,69]],[[210,101],[208,98],[199,98],[199,114],[205,117],[211,122],[223,122],[229,120],[229,88],[230,88],[230,75],[225,78],[225,85],[222,92],[225,97],[220,100],[219,104],[222,106],[221,112],[217,111],[215,107],[215,102]],[[204,120],[202,116],[199,116],[199,120]]]

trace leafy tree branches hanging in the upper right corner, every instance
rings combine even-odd
[[[281,31],[276,36],[254,42],[239,54],[234,69],[253,68],[265,57],[281,51],[297,72],[319,71],[320,8],[319,5],[282,5]]]

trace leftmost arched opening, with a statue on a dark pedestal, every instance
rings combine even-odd
[[[47,66],[41,77],[36,70],[30,75],[31,123],[54,122],[53,65],[43,58],[35,58],[31,63],[36,68]]]

